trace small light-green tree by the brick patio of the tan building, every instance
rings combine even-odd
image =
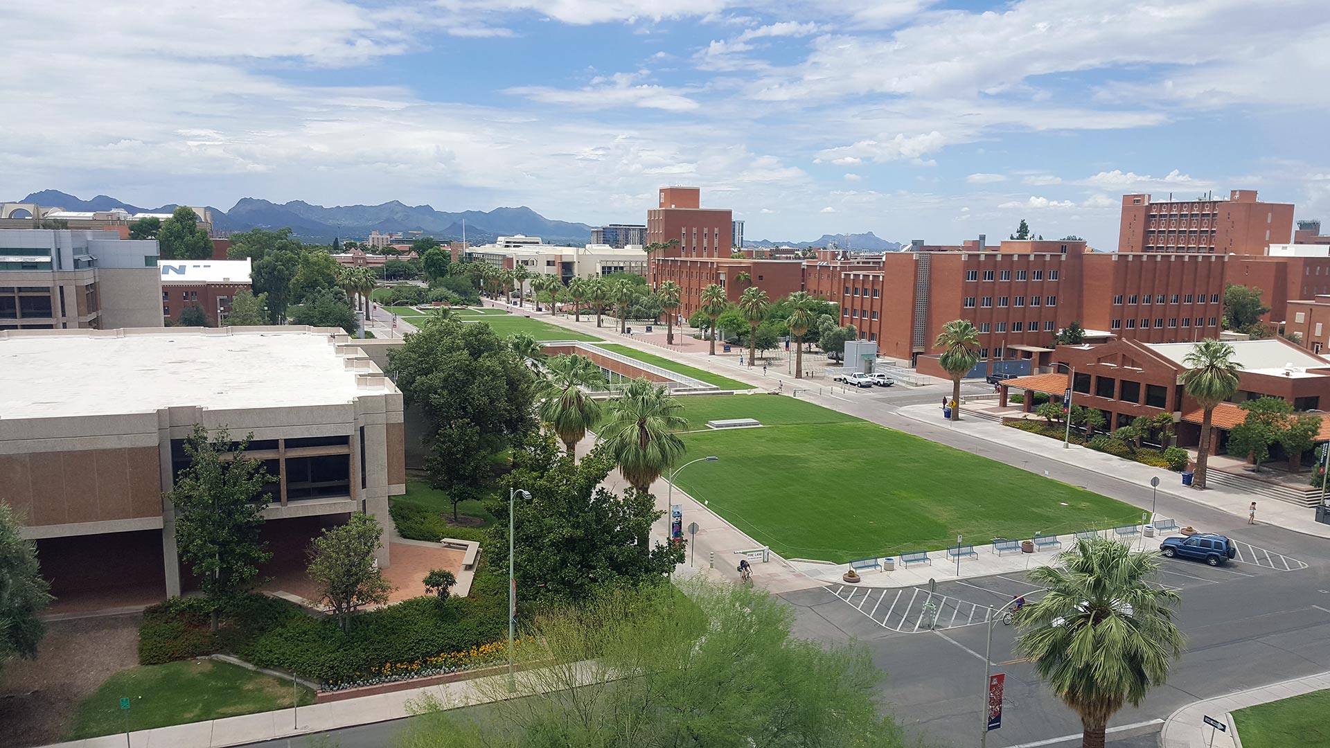
[[[388,602],[392,586],[383,579],[374,558],[382,547],[383,527],[359,511],[346,524],[323,530],[310,543],[306,572],[319,591],[319,602],[332,608],[343,632],[358,608]]]

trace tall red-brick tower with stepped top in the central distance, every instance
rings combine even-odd
[[[678,242],[656,253],[652,257],[653,266],[672,257],[728,258],[733,234],[733,213],[702,208],[698,188],[661,188],[658,206],[646,212],[648,245],[666,244],[670,240]],[[653,287],[660,285],[654,268],[649,270],[646,280]]]

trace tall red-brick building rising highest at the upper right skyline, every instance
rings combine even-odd
[[[1228,200],[1168,200],[1124,194],[1117,252],[1265,254],[1293,236],[1293,204],[1260,202],[1254,189]]]

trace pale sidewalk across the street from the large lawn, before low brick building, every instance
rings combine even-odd
[[[914,421],[926,423],[939,422],[938,407],[935,405],[906,406],[898,413]],[[1149,486],[1150,478],[1158,476],[1160,494],[1166,494],[1176,499],[1217,508],[1244,519],[1246,518],[1248,507],[1252,503],[1250,494],[1224,487],[1212,487],[1205,491],[1184,488],[1181,476],[1172,470],[1140,465],[1137,462],[1116,458],[1111,454],[1077,445],[1072,445],[1069,449],[1064,450],[1060,442],[1049,439],[1048,437],[1040,437],[1039,434],[1029,434],[1019,429],[1011,429],[998,423],[996,421],[964,418],[964,410],[962,410],[962,419],[952,423],[951,427],[955,431],[978,439],[1019,447],[1048,459],[1073,465],[1076,467],[1084,467],[1087,470],[1093,470],[1095,472],[1112,475],[1141,486]],[[1257,520],[1262,524],[1273,524],[1275,527],[1283,527],[1285,530],[1293,530],[1305,535],[1315,535],[1318,538],[1330,538],[1330,524],[1321,524],[1317,522],[1315,510],[1297,507],[1285,502],[1265,498],[1260,499],[1258,507]]]

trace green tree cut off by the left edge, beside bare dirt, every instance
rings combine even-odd
[[[37,543],[23,536],[13,507],[0,502],[0,672],[13,657],[37,657],[41,611],[53,600],[37,564]]]

